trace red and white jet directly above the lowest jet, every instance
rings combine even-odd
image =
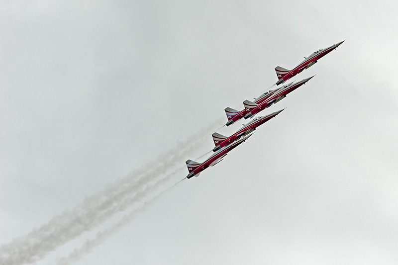
[[[273,117],[275,117],[276,115],[281,113],[282,111],[283,111],[283,109],[281,109],[279,111],[275,111],[271,114],[268,114],[267,116],[257,117],[255,119],[253,119],[252,121],[250,121],[248,124],[244,125],[239,131],[235,132],[234,134],[232,134],[229,137],[223,136],[222,134],[219,134],[216,132],[213,133],[211,135],[213,137],[213,141],[214,141],[214,145],[215,145],[215,147],[213,148],[213,152],[223,148],[226,145],[229,145],[230,143],[241,138],[242,136],[248,135],[249,133],[256,130],[256,128],[258,126],[269,121],[270,119],[272,119]]]

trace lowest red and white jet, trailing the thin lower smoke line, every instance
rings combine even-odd
[[[198,162],[195,162],[195,161],[192,161],[192,160],[187,160],[185,163],[187,164],[188,171],[190,172],[190,174],[188,174],[187,178],[191,178],[191,177],[194,177],[194,176],[198,177],[199,174],[203,170],[207,169],[208,167],[212,167],[215,164],[221,162],[222,159],[227,155],[227,153],[229,151],[231,151],[232,149],[234,149],[235,147],[237,147],[238,145],[240,145],[241,143],[246,141],[252,135],[253,135],[253,133],[243,137],[242,139],[240,139],[238,141],[233,142],[232,144],[224,146],[223,148],[219,149],[217,152],[212,154],[203,163],[198,163]]]

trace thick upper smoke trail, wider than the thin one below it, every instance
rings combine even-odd
[[[216,122],[219,123],[220,121]],[[180,163],[181,159],[200,145],[203,131],[208,131],[214,126],[215,124],[211,124],[208,128],[200,130],[197,135],[147,166],[152,167],[156,164],[155,168],[148,170],[144,167],[127,177],[118,179],[103,191],[86,198],[72,210],[53,217],[47,224],[33,229],[26,236],[0,246],[0,264],[19,265],[41,260],[49,252],[102,223],[116,213],[117,209],[119,211],[123,209],[119,208],[119,204],[126,196],[138,193],[151,181]],[[133,199],[130,203],[132,202]]]

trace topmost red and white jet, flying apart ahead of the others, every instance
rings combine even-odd
[[[276,85],[280,85],[280,84],[286,82],[287,80],[289,80],[292,77],[296,76],[297,74],[301,73],[305,69],[311,67],[313,64],[318,62],[318,60],[320,58],[322,58],[323,56],[325,56],[329,52],[335,50],[344,41],[345,40],[343,40],[342,42],[339,42],[337,44],[334,44],[334,45],[332,45],[330,47],[327,47],[325,49],[320,49],[320,50],[318,50],[316,52],[313,52],[310,56],[304,57],[304,61],[302,61],[298,66],[293,68],[293,70],[288,70],[288,69],[285,69],[283,67],[277,66],[275,68],[275,71],[277,72],[277,76],[278,76],[279,80],[276,83]]]

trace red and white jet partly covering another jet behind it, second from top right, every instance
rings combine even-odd
[[[299,84],[299,86],[304,85],[308,80],[310,80],[313,77],[314,76],[312,76],[310,78],[303,79],[296,84]],[[293,88],[293,86],[289,86],[289,85],[290,84],[283,86],[282,88],[275,89],[274,93],[267,100],[263,101],[263,103],[256,104],[249,100],[243,101],[243,105],[245,106],[245,109],[248,110],[248,113],[245,115],[245,119],[252,118],[254,115],[259,113],[263,109],[266,109],[269,106],[271,106],[272,104],[277,103],[278,101],[282,100],[283,98],[286,97],[286,95],[288,93],[292,92],[293,90],[295,90],[296,88],[299,87],[299,86],[296,86]]]

